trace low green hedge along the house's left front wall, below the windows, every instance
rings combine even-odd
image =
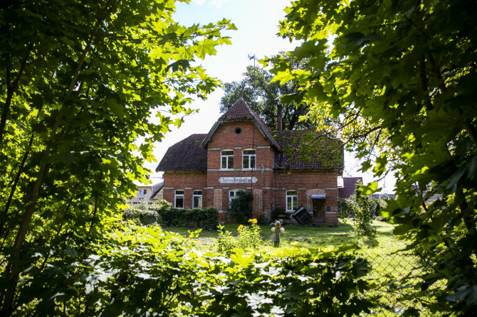
[[[142,203],[127,208],[122,214],[122,219],[133,220],[142,225],[158,223],[163,227],[189,227],[214,231],[219,225],[219,212],[215,208],[172,208],[167,201],[159,200],[152,205]]]

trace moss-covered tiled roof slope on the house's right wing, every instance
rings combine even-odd
[[[339,139],[307,130],[276,131],[274,135],[282,149],[275,156],[274,169],[342,170],[343,168],[342,142]],[[310,154],[310,149],[313,149],[313,146],[320,146],[319,143],[324,144],[323,148],[315,155]]]

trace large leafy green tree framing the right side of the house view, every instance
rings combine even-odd
[[[440,250],[425,259],[432,273],[421,276],[421,289],[441,281],[440,310],[475,311],[476,2],[298,0],[285,11],[281,36],[302,41],[290,56],[310,68],[273,58],[274,80],[298,81],[295,102],[339,129],[348,149],[367,158],[363,170],[395,174],[397,200],[387,205],[395,232],[416,253]],[[426,203],[434,193],[454,199]]]

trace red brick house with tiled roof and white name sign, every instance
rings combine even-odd
[[[164,199],[177,208],[214,207],[227,221],[242,190],[253,194],[252,217],[271,220],[303,206],[316,224],[337,225],[342,167],[341,141],[315,131],[272,132],[239,100],[208,134],[171,146],[156,171],[164,172]]]

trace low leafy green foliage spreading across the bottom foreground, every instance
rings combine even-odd
[[[19,315],[343,316],[369,312],[369,263],[353,247],[280,256],[200,252],[160,227],[117,223],[88,247],[52,247],[22,274]],[[51,254],[47,267],[41,258]]]

